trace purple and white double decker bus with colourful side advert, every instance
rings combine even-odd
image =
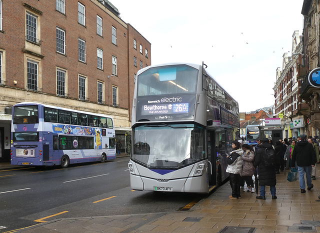
[[[32,166],[115,159],[111,116],[21,102],[12,108],[11,164]]]

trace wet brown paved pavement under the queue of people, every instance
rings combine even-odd
[[[0,163],[0,169],[9,168],[14,167]],[[271,199],[268,186],[265,200],[243,190],[241,198],[228,199],[226,182],[185,211],[58,218],[7,232],[320,232],[320,170],[317,174],[314,187],[301,193],[299,181],[288,182],[280,172],[277,199]]]

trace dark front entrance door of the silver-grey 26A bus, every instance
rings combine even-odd
[[[216,149],[214,131],[207,131],[208,179],[209,186],[216,185]]]

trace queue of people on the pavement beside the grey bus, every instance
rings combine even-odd
[[[297,168],[299,185],[301,193],[313,188],[312,179],[315,179],[316,163],[319,159],[319,139],[317,136],[309,136],[306,138],[305,134],[301,134],[297,138],[279,139],[273,144],[272,140],[268,138],[257,139],[257,144],[252,145],[243,144],[242,140],[232,141],[232,151],[227,155],[227,168],[229,172],[230,185],[232,193],[230,199],[241,198],[240,189],[246,183],[243,191],[255,192],[253,185],[253,173],[257,171],[260,185],[260,195],[257,199],[265,199],[265,186],[270,186],[270,193],[272,199],[276,199],[276,174],[283,171],[283,169]],[[266,155],[266,148],[269,154]],[[265,160],[267,156],[274,156],[271,164]],[[306,179],[306,186],[305,180]],[[258,187],[255,187],[258,188]],[[320,198],[320,196],[319,196]]]

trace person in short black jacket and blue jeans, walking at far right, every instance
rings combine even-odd
[[[300,183],[300,191],[301,193],[305,192],[305,181],[304,181],[304,173],[306,178],[306,185],[307,189],[311,190],[313,187],[312,180],[311,180],[311,171],[312,166],[315,165],[316,156],[311,143],[306,140],[306,135],[300,135],[300,141],[296,143],[294,146],[294,150],[292,152],[292,164],[296,164],[298,166],[298,173],[299,173],[299,183]]]

